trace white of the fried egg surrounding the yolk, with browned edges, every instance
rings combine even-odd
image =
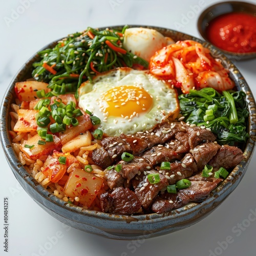
[[[132,118],[107,116],[102,108],[108,106],[108,102],[102,99],[102,95],[117,87],[134,86],[143,88],[153,99],[151,110],[147,113],[133,113]],[[157,79],[148,71],[133,70],[130,68],[118,68],[104,74],[97,75],[93,83],[86,81],[79,88],[79,108],[89,110],[100,118],[98,125],[103,133],[108,136],[135,134],[152,129],[161,123],[169,115],[177,113],[179,103],[176,91],[162,80]]]

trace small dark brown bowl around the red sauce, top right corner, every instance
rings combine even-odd
[[[246,2],[235,2],[235,1],[228,1],[228,2],[220,2],[214,5],[209,6],[205,9],[199,16],[197,27],[199,33],[204,38],[204,40],[208,41],[206,31],[209,25],[209,22],[225,13],[231,12],[245,12],[256,16],[256,5]],[[245,60],[251,59],[256,57],[256,52],[249,52],[249,53],[236,53],[236,52],[229,52],[222,49],[219,49],[224,52],[228,58],[232,60]]]

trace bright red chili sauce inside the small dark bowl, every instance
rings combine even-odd
[[[243,12],[226,13],[212,19],[208,40],[218,48],[237,53],[256,52],[256,17]]]

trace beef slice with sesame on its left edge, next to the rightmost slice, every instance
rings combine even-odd
[[[194,147],[193,150],[190,150],[190,153],[197,163],[198,170],[202,170],[212,157],[217,154],[220,148],[221,146],[217,143],[206,142]]]

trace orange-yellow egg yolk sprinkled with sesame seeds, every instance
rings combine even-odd
[[[107,116],[126,117],[149,112],[152,109],[153,98],[141,87],[121,86],[113,88],[102,97],[108,104],[103,112]]]

